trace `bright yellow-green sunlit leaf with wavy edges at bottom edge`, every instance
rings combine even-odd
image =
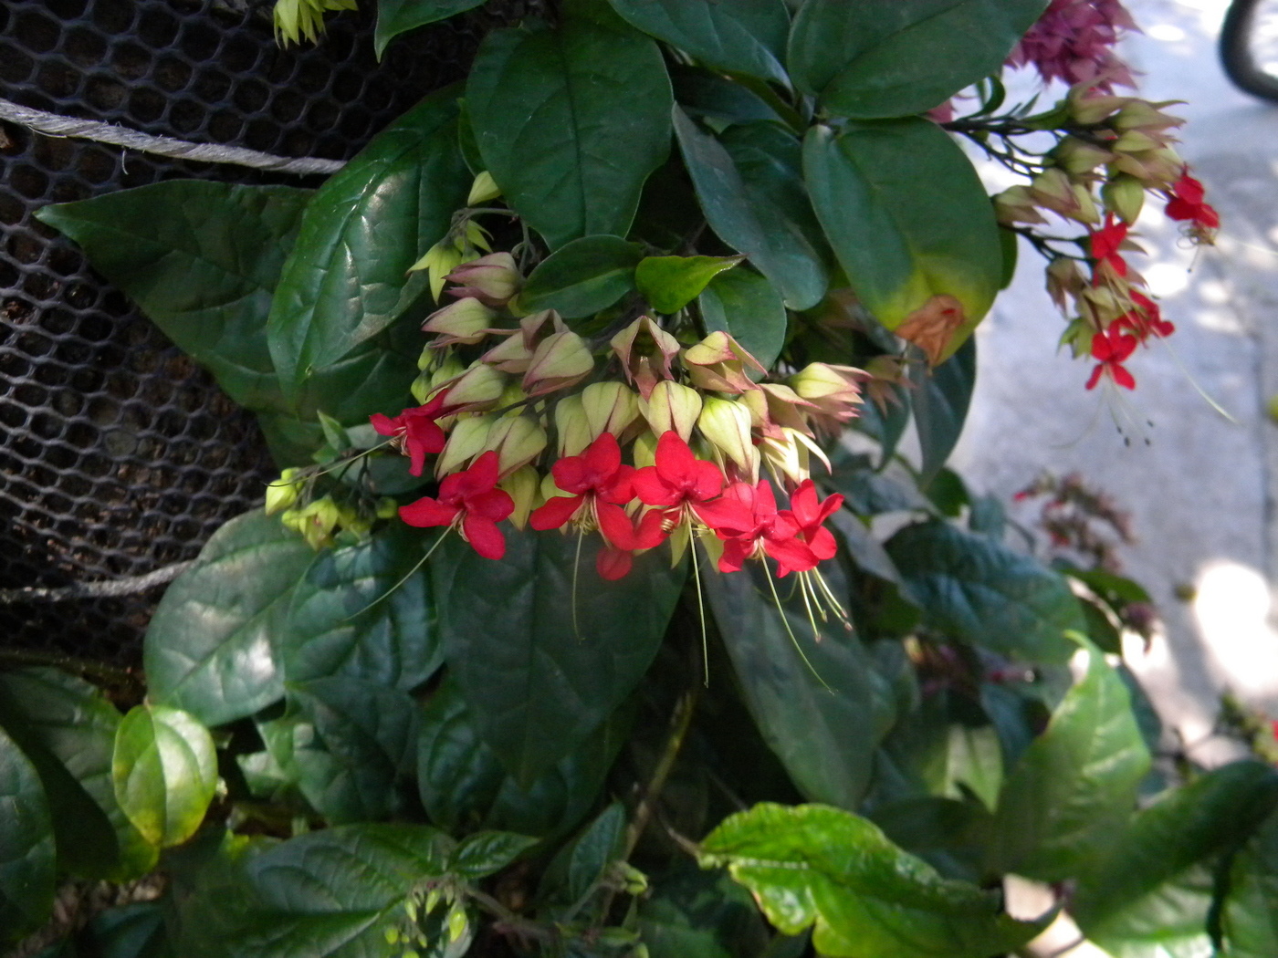
[[[987,958],[1045,925],[1008,917],[997,892],[943,879],[870,821],[822,805],[737,812],[702,842],[700,861],[727,867],[780,931],[813,926],[832,958]]]

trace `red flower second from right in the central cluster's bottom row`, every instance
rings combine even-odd
[[[739,572],[745,559],[760,553],[777,561],[778,577],[817,566],[813,551],[797,538],[799,526],[777,512],[767,479],[760,479],[758,485],[732,483],[722,498],[693,506],[693,510],[723,540],[721,572]]]

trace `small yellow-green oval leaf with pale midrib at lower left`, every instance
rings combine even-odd
[[[181,844],[213,800],[213,740],[189,713],[138,705],[115,732],[111,779],[116,801],[148,842]]]

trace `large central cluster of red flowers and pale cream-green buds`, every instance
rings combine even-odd
[[[598,533],[604,579],[663,543],[677,562],[694,539],[722,571],[769,557],[780,575],[806,572],[835,554],[823,522],[842,498],[819,499],[810,464],[824,460],[818,436],[856,414],[865,373],[812,363],[768,379],[732,336],[697,338],[686,317],[674,332],[639,316],[587,338],[523,307],[505,252],[446,280],[454,301],[423,324],[420,405],[371,418],[413,475],[433,461],[440,480],[438,494],[400,507],[404,522],[456,530],[495,559],[507,519]]]

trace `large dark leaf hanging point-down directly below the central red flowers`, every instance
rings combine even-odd
[[[604,582],[598,548],[594,536],[509,530],[502,559],[454,539],[432,563],[449,668],[481,737],[523,787],[635,687],[679,598],[684,571],[665,556]]]

